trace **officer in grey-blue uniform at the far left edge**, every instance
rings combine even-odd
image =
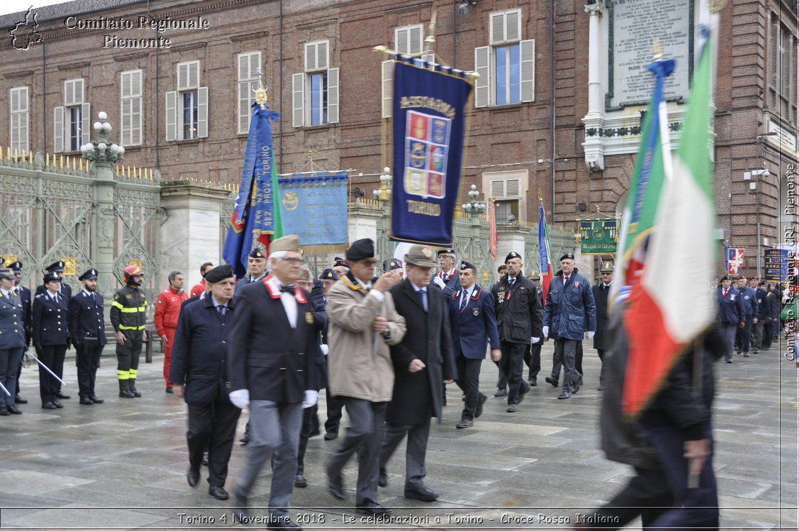
[[[0,269],[0,382],[9,393],[17,386],[17,369],[25,352],[25,329],[22,300],[14,293],[14,269]],[[14,405],[14,396],[0,391],[0,415],[22,413]]]

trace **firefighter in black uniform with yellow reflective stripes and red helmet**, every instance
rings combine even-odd
[[[125,287],[117,291],[111,303],[111,325],[117,333],[117,379],[121,398],[141,397],[136,389],[141,345],[147,341],[147,297],[141,284],[145,272],[139,266],[123,271]]]

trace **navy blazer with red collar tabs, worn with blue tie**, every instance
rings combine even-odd
[[[463,289],[458,289],[449,301],[452,343],[455,345],[452,352],[455,357],[462,352],[464,357],[472,360],[485,359],[488,341],[491,341],[492,349],[499,349],[494,296],[475,285],[471,297],[461,309],[462,296]]]

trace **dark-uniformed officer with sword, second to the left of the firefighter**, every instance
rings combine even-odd
[[[44,277],[45,293],[34,298],[34,348],[47,368],[59,378],[64,373],[67,329],[69,326],[69,301],[58,293],[61,278],[58,273],[47,273]],[[39,367],[39,393],[42,409],[61,409],[57,400],[59,382],[42,367]]]

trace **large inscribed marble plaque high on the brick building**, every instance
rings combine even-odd
[[[613,68],[610,108],[643,105],[654,88],[654,76],[646,66],[652,62],[654,39],[663,48],[663,58],[674,59],[674,73],[666,78],[666,99],[687,98],[690,71],[690,9],[693,0],[613,0],[610,63]]]

